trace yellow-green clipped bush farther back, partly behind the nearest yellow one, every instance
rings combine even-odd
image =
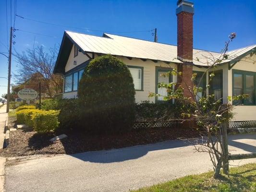
[[[30,127],[33,127],[33,121],[31,120],[31,115],[38,111],[39,109],[35,109],[35,108],[18,110],[16,112],[17,122],[19,124],[26,124]]]

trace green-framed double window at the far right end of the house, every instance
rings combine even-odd
[[[254,105],[256,103],[255,76],[255,72],[233,70],[233,96],[249,95],[244,100],[233,101],[233,104]]]

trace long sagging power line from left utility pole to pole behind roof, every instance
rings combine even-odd
[[[155,29],[150,29],[150,30],[144,30],[144,31],[102,31],[102,30],[96,30],[96,29],[67,26],[67,25],[62,25],[62,24],[53,24],[53,23],[38,21],[38,20],[35,20],[35,19],[26,18],[26,17],[20,16],[20,15],[17,15],[17,14],[16,14],[16,16],[19,17],[19,18],[22,18],[22,19],[26,19],[26,20],[29,20],[29,21],[42,23],[42,24],[50,24],[50,25],[54,25],[54,26],[68,27],[68,28],[87,30],[87,31],[105,32],[105,33],[140,33],[140,32],[151,32],[151,31],[155,30]]]

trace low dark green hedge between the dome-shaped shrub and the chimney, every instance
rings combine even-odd
[[[174,118],[174,105],[169,101],[164,103],[143,101],[136,105],[136,121],[165,121]]]

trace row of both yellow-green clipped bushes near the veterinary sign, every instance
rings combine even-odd
[[[16,112],[17,122],[32,127],[37,132],[55,131],[59,126],[59,110],[23,109]]]

